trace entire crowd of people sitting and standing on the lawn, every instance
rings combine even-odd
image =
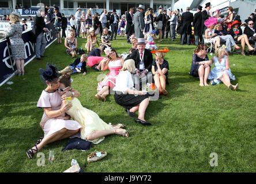
[[[70,21],[69,36],[65,38],[66,53],[73,57],[78,54],[77,37],[82,35],[82,38],[87,39],[85,48],[88,54],[81,55],[60,71],[50,64],[47,64],[45,70],[40,69],[40,77],[47,85],[37,102],[37,107],[44,111],[40,122],[40,127],[44,131],[44,138],[37,139],[35,145],[27,151],[29,159],[45,145],[67,137],[80,136],[81,139],[91,141],[94,144],[100,143],[104,136],[111,134],[129,137],[128,132],[123,129],[125,125],[107,124],[95,112],[84,108],[77,99],[80,93],[71,88],[71,75],[73,73],[86,75],[86,66],[98,72],[109,70],[103,81],[98,83],[96,99],[105,102],[107,95],[114,94],[116,104],[122,106],[128,116],[134,117],[134,113],[138,111],[135,122],[151,125],[145,120],[150,96],[155,97],[157,95],[157,98],[161,98],[161,95],[167,96],[166,85],[168,85],[168,70],[170,69],[168,61],[165,60],[165,55],[169,49],[159,49],[156,44],[162,41],[164,37],[167,38],[169,32],[171,40],[175,40],[176,27],[181,35],[181,44],[185,41],[187,44],[191,44],[190,33],[193,21],[194,33],[198,34],[195,38],[198,47],[192,56],[190,75],[199,78],[199,86],[209,86],[208,81],[213,84],[214,81],[219,80],[228,89],[238,89],[238,83],[236,85],[231,84],[231,81],[235,81],[235,76],[229,67],[228,52],[231,51],[231,46],[240,49],[236,44],[239,41],[242,45],[242,53],[245,44],[248,45],[249,50],[254,49],[250,45],[250,41],[256,36],[254,24],[251,23],[253,21],[248,21],[248,26],[246,25],[242,30],[239,28],[242,22],[239,20],[232,21],[234,18],[231,14],[232,7],[228,7],[228,12],[231,12],[229,18],[223,19],[218,17],[219,12],[216,13],[216,17],[210,17],[210,13],[208,13],[210,5],[208,5],[209,3],[206,3],[205,12],[201,12],[202,7],[199,6],[195,16],[189,12],[189,8],[181,15],[179,11],[169,11],[167,16],[167,11],[159,9],[159,14],[156,16],[151,8],[146,10],[144,14],[145,7],[143,5],[138,6],[137,11],[130,8],[126,16],[121,17],[116,14],[116,10],[108,16],[106,9],[101,15],[92,16],[91,11],[88,10],[86,15],[85,12],[82,12],[80,16],[81,9],[78,7],[75,16],[71,16],[70,19],[73,20],[72,24],[74,23],[74,25],[71,25]],[[45,21],[46,14],[47,21]],[[203,14],[208,15],[204,24],[196,21],[198,17],[202,19]],[[54,7],[54,10],[46,7],[36,15],[31,37],[31,40],[36,43],[36,59],[42,60],[42,57],[45,57],[46,38],[44,32],[49,31],[46,28],[46,22],[54,23],[57,41],[62,43],[60,34],[63,29],[62,17],[58,7]],[[18,13],[10,14],[12,24],[6,30],[5,36],[9,37],[10,40],[13,59],[16,61],[17,75],[24,75],[24,59],[26,58],[24,41],[21,39],[20,18]],[[219,21],[220,19],[221,21]],[[126,34],[127,43],[131,44],[131,48],[129,54],[119,56],[112,47],[111,41],[116,39],[119,25],[122,22],[125,24],[125,20],[126,25],[122,27],[124,28],[123,33]],[[180,25],[176,26],[179,21]],[[109,28],[111,28],[111,32]],[[202,40],[199,43],[198,39],[202,39],[202,30],[205,32],[205,40],[215,45],[215,56],[212,59],[209,59],[207,55],[207,43],[202,43]],[[156,32],[159,34],[157,41],[155,40]],[[100,41],[97,40],[99,33],[101,35]],[[221,46],[221,43],[225,44]],[[103,53],[105,53],[105,57],[102,56]],[[153,59],[154,56],[155,59]],[[212,64],[214,64],[214,68],[211,70]],[[147,92],[147,88],[152,89],[150,91],[152,93]],[[65,101],[67,97],[71,97],[71,103]],[[70,120],[70,117],[73,120]]]

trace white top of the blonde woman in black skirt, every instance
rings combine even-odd
[[[133,85],[131,73],[128,70],[121,71],[115,79],[115,87],[113,90],[122,91],[123,94],[126,94],[128,89],[133,89]]]

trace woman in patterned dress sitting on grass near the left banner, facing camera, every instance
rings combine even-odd
[[[66,53],[72,55],[72,57],[77,56],[77,39],[75,38],[76,33],[74,30],[70,30],[69,37],[65,39]]]

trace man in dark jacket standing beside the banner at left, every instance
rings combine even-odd
[[[46,28],[46,22],[44,22],[45,13],[47,10],[44,8],[40,10],[40,13],[36,14],[35,22],[33,25],[32,32],[35,34],[36,41],[36,59],[42,60],[44,56],[44,51],[46,50],[46,36],[45,32],[49,32]],[[34,42],[32,41],[32,42]]]

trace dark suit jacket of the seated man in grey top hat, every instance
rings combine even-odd
[[[140,53],[138,52],[138,49],[131,52],[126,57],[125,60],[127,60],[127,59],[133,59],[135,62],[135,67],[137,69],[140,68],[141,59],[140,59]],[[152,63],[153,63],[152,53],[148,49],[145,49],[145,51],[144,51],[144,66],[145,66],[145,69],[148,70],[149,72],[151,72],[151,70],[152,70]]]

